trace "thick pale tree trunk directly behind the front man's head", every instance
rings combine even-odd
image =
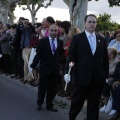
[[[77,26],[81,31],[84,31],[84,18],[87,14],[88,0],[77,0],[77,1],[63,0],[63,1],[69,7],[71,23]]]

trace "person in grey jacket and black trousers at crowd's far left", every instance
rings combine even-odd
[[[4,34],[0,38],[1,50],[3,55],[3,64],[4,64],[4,72],[6,75],[11,75],[11,58],[10,58],[10,45],[8,38],[10,37],[10,24],[4,24]],[[8,62],[9,61],[9,62]]]

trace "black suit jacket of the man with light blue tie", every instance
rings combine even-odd
[[[107,46],[104,38],[96,35],[96,51],[92,54],[85,32],[73,37],[67,63],[74,62],[75,85],[103,85],[109,73]]]

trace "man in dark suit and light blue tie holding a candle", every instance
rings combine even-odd
[[[75,87],[69,120],[75,120],[86,99],[87,120],[98,120],[99,118],[99,99],[108,77],[109,61],[105,40],[95,34],[96,25],[96,16],[87,15],[85,31],[73,37],[69,48],[67,63],[74,63],[73,83]],[[69,82],[69,75],[65,76],[67,76],[65,81]]]

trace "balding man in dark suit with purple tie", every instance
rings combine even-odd
[[[63,54],[63,42],[57,39],[58,28],[55,24],[49,28],[49,36],[40,39],[37,54],[31,64],[35,68],[40,61],[40,84],[38,89],[38,110],[44,102],[46,94],[46,109],[57,112],[53,100],[60,81],[60,56]]]

